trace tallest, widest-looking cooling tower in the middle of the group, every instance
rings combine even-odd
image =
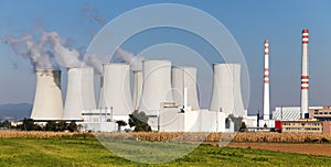
[[[154,115],[160,110],[160,103],[172,102],[171,62],[143,60],[143,84],[139,111]]]

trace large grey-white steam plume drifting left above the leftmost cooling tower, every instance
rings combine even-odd
[[[36,36],[6,36],[3,42],[9,44],[15,54],[30,59],[34,69],[54,69],[58,66],[79,67],[79,52],[65,47],[65,40],[57,32],[42,31],[40,40]]]

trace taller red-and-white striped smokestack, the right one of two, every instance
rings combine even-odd
[[[301,119],[308,113],[308,29],[302,30],[302,76],[301,76]]]

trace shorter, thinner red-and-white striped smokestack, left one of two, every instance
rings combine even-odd
[[[270,118],[269,94],[269,40],[265,40],[264,120]]]

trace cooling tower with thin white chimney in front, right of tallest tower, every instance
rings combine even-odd
[[[194,67],[172,67],[171,85],[173,101],[184,105],[184,88],[188,90],[188,105],[192,110],[199,110],[196,93],[196,68]]]

